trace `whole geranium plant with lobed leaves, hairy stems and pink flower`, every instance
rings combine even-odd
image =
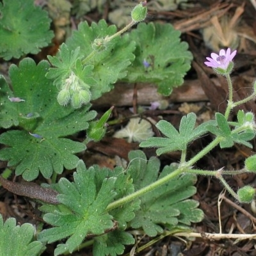
[[[24,3],[31,4],[31,0]],[[17,6],[13,1],[3,1],[0,7],[4,17],[5,12],[12,13]],[[22,11],[29,15],[31,8]],[[44,17],[45,13],[40,15]],[[135,243],[129,232],[132,229],[140,229],[148,236],[162,234],[164,230],[188,230],[191,223],[204,217],[198,202],[191,199],[196,193],[196,174],[215,175],[241,203],[253,199],[252,187],[246,186],[235,193],[223,178],[223,175],[255,172],[252,158],[246,161],[243,170],[193,168],[196,161],[217,145],[226,148],[242,143],[252,147],[254,115],[239,111],[237,122],[228,120],[235,106],[256,94],[254,91],[246,99],[233,102],[230,72],[236,52],[231,53],[230,49],[212,54],[206,62],[227,77],[230,92],[225,115],[216,113],[215,120],[195,127],[196,115],[189,113],[182,118],[179,131],[161,120],[156,127],[164,137],[148,138],[140,144],[157,147],[158,156],[179,150],[179,163],[161,169],[159,159],[147,159],[141,150],[136,150],[130,152],[126,169],[109,170],[97,165],[86,167],[76,156],[86,150],[89,141],[104,137],[113,108],[96,120],[97,113],[90,102],[109,92],[116,81],[152,82],[160,93],[169,95],[173,87],[182,84],[190,68],[192,56],[188,44],[180,42],[179,31],[171,25],[141,23],[123,35],[146,16],[147,1],[143,1],[132,10],[131,23],[120,31],[108,26],[105,20],[91,25],[81,22],[77,31],[60,46],[58,54],[48,56],[49,61],[42,60],[36,65],[31,58],[24,58],[19,65],[11,65],[12,86],[0,77],[0,126],[5,130],[0,136],[3,145],[0,159],[7,161],[9,167],[0,182],[12,193],[38,200],[42,204],[42,218],[48,224],[41,229],[36,227],[33,236],[31,225],[15,225],[13,219],[3,223],[1,218],[0,252],[4,255],[40,255],[49,243],[54,243],[54,255],[72,253],[92,244],[93,255],[121,255],[125,245]],[[42,37],[45,28],[38,30]],[[0,35],[4,33],[0,29]],[[45,38],[51,38],[52,33],[47,35]],[[14,40],[12,36],[10,41]],[[27,53],[16,46],[17,51],[9,49],[2,56],[8,60]],[[42,46],[38,42],[34,48]],[[131,127],[127,130],[132,133]],[[86,131],[84,141],[77,141],[74,136],[80,131]],[[214,140],[188,159],[189,143],[207,132],[214,134]],[[76,169],[73,179],[63,177],[64,170],[72,169]],[[22,175],[27,182],[6,180],[12,172]],[[45,181],[51,180],[51,185],[31,182],[40,180],[39,175]],[[8,249],[10,237],[12,246]]]

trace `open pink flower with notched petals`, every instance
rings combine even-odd
[[[205,61],[205,65],[207,65],[207,67],[227,70],[229,63],[233,60],[234,56],[236,56],[236,51],[230,52],[230,48],[228,48],[227,51],[221,49],[219,55],[212,52],[211,58],[206,58],[208,61]]]

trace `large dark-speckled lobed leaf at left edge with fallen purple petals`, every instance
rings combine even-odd
[[[13,91],[1,79],[0,125],[22,130],[1,134],[0,142],[8,147],[0,150],[0,159],[16,166],[15,173],[26,180],[36,179],[39,172],[49,178],[53,172],[61,173],[63,166],[74,168],[79,160],[74,154],[83,151],[85,145],[63,137],[87,129],[88,121],[96,115],[95,111],[88,112],[90,105],[75,111],[52,100],[56,87],[45,78],[48,69],[47,61],[36,65],[26,58],[19,67],[10,67]],[[18,96],[25,101],[10,101]]]

